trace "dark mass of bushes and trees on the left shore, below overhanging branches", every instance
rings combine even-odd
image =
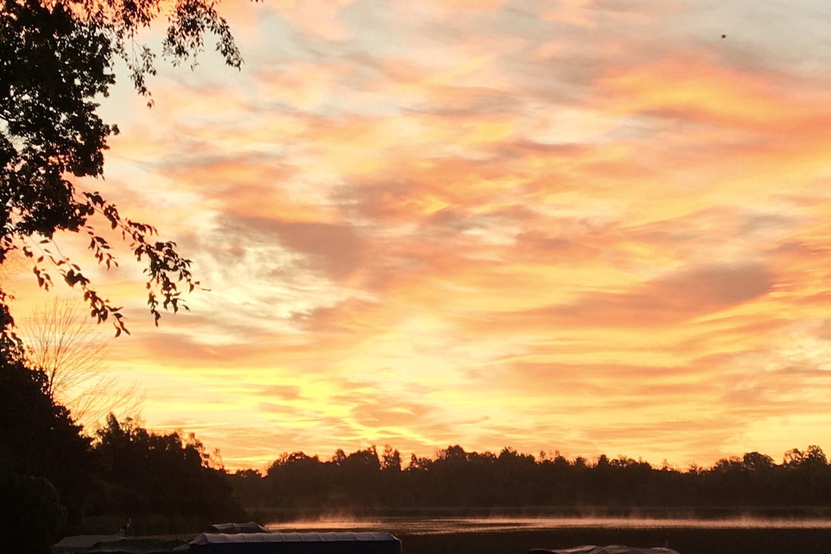
[[[48,552],[66,528],[83,532],[87,517],[133,518],[134,531],[170,517],[192,531],[243,516],[194,434],[155,434],[110,416],[93,443],[49,394],[44,372],[23,360],[22,346],[0,336],[2,530],[22,541],[12,552]]]

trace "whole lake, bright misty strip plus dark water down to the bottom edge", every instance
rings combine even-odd
[[[404,554],[525,554],[531,548],[627,544],[681,554],[831,552],[831,519],[726,517],[332,517],[273,531],[388,531]]]

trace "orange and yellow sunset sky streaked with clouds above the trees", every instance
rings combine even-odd
[[[156,329],[126,248],[105,272],[57,238],[125,306],[101,340],[147,427],[230,469],[831,449],[831,4],[219,11],[242,70],[160,63],[152,109],[121,71],[105,179],[79,184],[209,290]],[[18,321],[71,295],[6,279]]]

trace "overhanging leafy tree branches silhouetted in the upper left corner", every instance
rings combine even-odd
[[[155,53],[137,49],[138,32],[159,17],[169,26],[163,56],[174,64],[194,59],[206,33],[229,66],[242,58],[227,22],[206,0],[0,0],[0,263],[19,253],[32,264],[38,285],[52,287],[56,274],[80,287],[96,321],[126,331],[120,307],[100,297],[81,267],[57,245],[57,233],[83,233],[96,262],[117,264],[110,243],[95,225],[111,228],[146,263],[150,312],[187,307],[181,288],[199,285],[190,261],[175,243],[156,237],[147,223],[123,217],[115,203],[73,179],[101,177],[107,140],[118,133],[97,113],[96,97],[116,81],[114,62],[126,61],[140,94],[150,98],[146,77],[155,74]],[[130,47],[128,47],[128,45]],[[149,104],[151,101],[149,101]],[[7,292],[0,289],[0,330],[10,333]]]

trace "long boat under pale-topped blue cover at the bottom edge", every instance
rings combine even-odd
[[[203,533],[190,542],[194,554],[401,554],[388,532]]]

